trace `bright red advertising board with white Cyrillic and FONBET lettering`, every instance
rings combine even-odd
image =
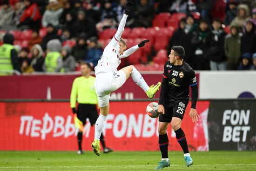
[[[104,125],[108,147],[121,151],[156,151],[158,120],[146,114],[149,102],[110,102]],[[77,130],[67,102],[1,102],[0,150],[77,150]],[[208,151],[207,115],[209,101],[199,101],[201,119],[192,123],[189,108],[182,129],[191,151]],[[175,132],[168,128],[169,150],[181,150]],[[92,150],[94,127],[85,125],[83,149]]]

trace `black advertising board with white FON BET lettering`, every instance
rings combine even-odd
[[[211,101],[209,150],[256,150],[256,100]]]

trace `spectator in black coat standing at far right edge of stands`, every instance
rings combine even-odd
[[[256,52],[256,34],[255,25],[252,20],[246,20],[245,33],[241,38],[241,54],[250,53],[251,55]]]

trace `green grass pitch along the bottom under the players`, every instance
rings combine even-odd
[[[256,151],[191,152],[187,167],[180,151],[169,151],[171,166],[163,171],[256,171]],[[0,171],[152,171],[160,151],[114,151],[95,156],[92,151],[0,151]]]

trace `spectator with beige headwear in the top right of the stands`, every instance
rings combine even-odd
[[[249,19],[249,7],[246,4],[240,4],[238,6],[238,13],[237,16],[232,22],[230,23],[231,26],[239,26],[240,29],[243,28],[243,24],[245,20]]]

